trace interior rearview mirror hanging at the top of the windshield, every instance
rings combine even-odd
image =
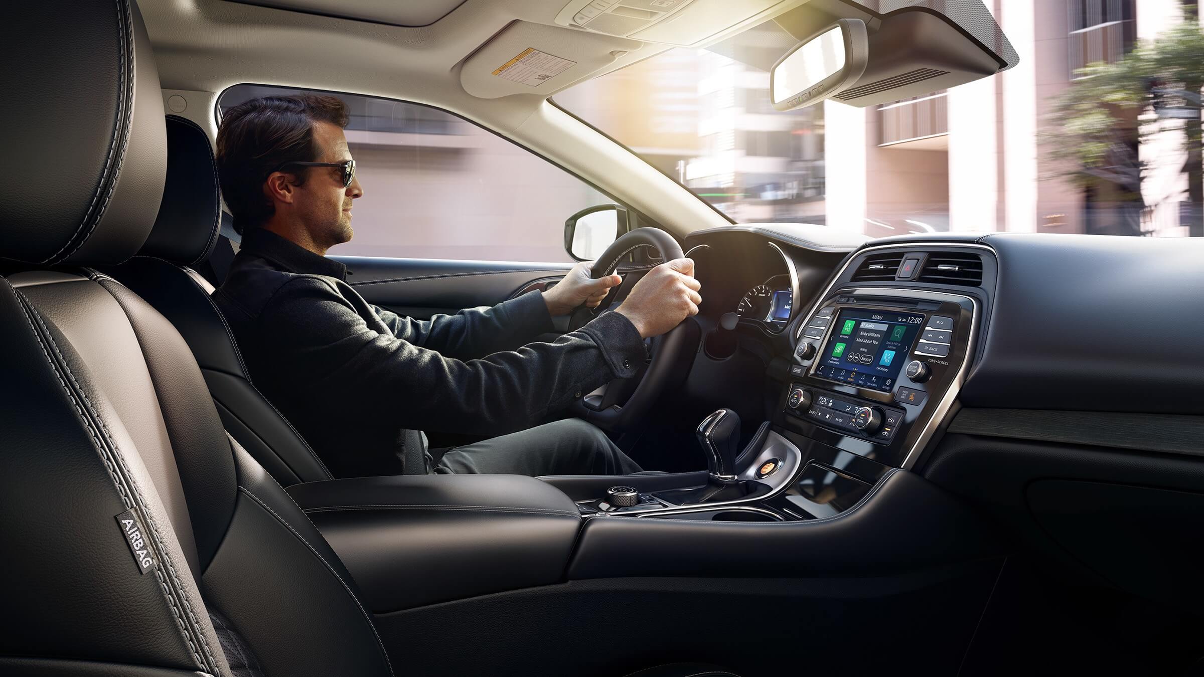
[[[769,71],[769,100],[779,111],[813,106],[857,82],[869,64],[861,19],[839,19],[799,42]]]

